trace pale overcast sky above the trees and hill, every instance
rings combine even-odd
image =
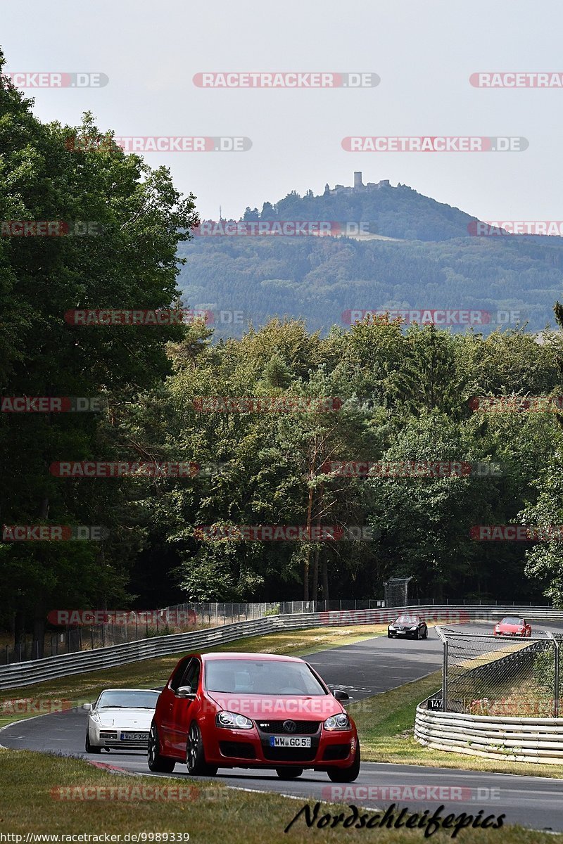
[[[8,71],[100,72],[100,89],[27,90],[42,121],[82,111],[119,136],[245,136],[241,153],[147,153],[203,218],[290,190],[390,179],[480,219],[563,219],[563,89],[479,89],[478,71],[563,71],[555,0],[96,0],[2,5]],[[202,89],[203,71],[371,72],[364,89]],[[349,153],[349,135],[520,136],[519,153]]]

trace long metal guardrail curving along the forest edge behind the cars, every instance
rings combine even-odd
[[[143,659],[164,657],[167,654],[190,652],[208,648],[247,636],[263,636],[277,630],[302,630],[322,625],[388,624],[398,614],[417,614],[427,621],[446,624],[463,624],[470,620],[493,621],[506,614],[520,614],[527,619],[563,621],[563,612],[545,607],[498,607],[452,604],[439,606],[395,607],[387,609],[328,610],[322,613],[296,613],[273,615],[254,621],[240,621],[211,630],[179,633],[173,636],[156,636],[150,639],[127,642],[123,645],[100,647],[95,651],[61,654],[58,657],[35,659],[33,662],[15,663],[0,668],[0,690],[18,689],[44,680],[84,674],[99,668],[136,663]]]

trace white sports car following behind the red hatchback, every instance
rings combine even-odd
[[[159,695],[156,689],[105,689],[94,705],[85,703],[86,753],[146,750]]]

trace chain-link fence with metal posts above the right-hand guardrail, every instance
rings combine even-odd
[[[469,715],[558,717],[563,636],[491,636],[436,628],[444,647],[442,688],[430,709]]]

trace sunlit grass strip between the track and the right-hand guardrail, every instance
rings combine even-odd
[[[461,768],[468,771],[496,771],[504,774],[563,778],[563,767],[528,762],[485,759],[482,756],[449,753],[426,748],[414,739],[414,711],[420,701],[441,687],[436,671],[382,695],[357,701],[348,707],[360,734],[362,759],[395,765],[423,765]]]

